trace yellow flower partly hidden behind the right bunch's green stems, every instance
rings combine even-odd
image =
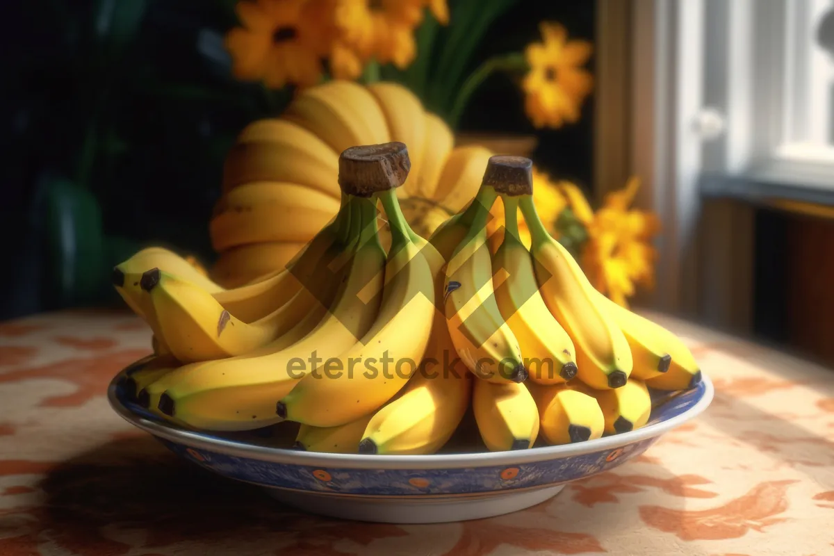
[[[559,232],[555,226],[556,220],[568,202],[560,188],[550,180],[550,176],[535,167],[533,168],[533,202],[535,203],[535,211],[545,224],[545,228],[550,231],[550,235],[558,238]],[[486,229],[490,234],[490,248],[495,252],[500,247],[501,242],[504,241],[504,203],[500,199],[492,205],[490,214],[493,218],[490,218]],[[527,228],[527,223],[525,223],[520,212],[518,213],[518,222],[521,243],[524,243],[529,249],[530,228]]]

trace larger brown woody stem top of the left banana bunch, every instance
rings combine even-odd
[[[339,187],[354,197],[399,188],[409,176],[411,160],[405,143],[351,147],[339,156]]]

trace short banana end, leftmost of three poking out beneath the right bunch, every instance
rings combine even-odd
[[[493,452],[531,448],[539,435],[539,409],[524,384],[475,380],[472,408]]]

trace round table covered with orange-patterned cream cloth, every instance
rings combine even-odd
[[[713,379],[706,413],[535,508],[417,526],[294,513],[123,422],[106,385],[150,346],[131,315],[0,323],[0,554],[834,554],[834,373],[650,316]]]

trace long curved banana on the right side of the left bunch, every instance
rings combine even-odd
[[[395,195],[392,190],[379,194]],[[407,224],[395,215],[387,216],[392,243],[378,318],[353,348],[334,361],[339,374],[328,377],[319,370],[301,379],[278,404],[282,418],[317,427],[349,423],[393,398],[423,359],[435,314],[431,270],[411,241]],[[357,363],[365,370],[355,370]],[[377,363],[382,363],[381,370]]]

